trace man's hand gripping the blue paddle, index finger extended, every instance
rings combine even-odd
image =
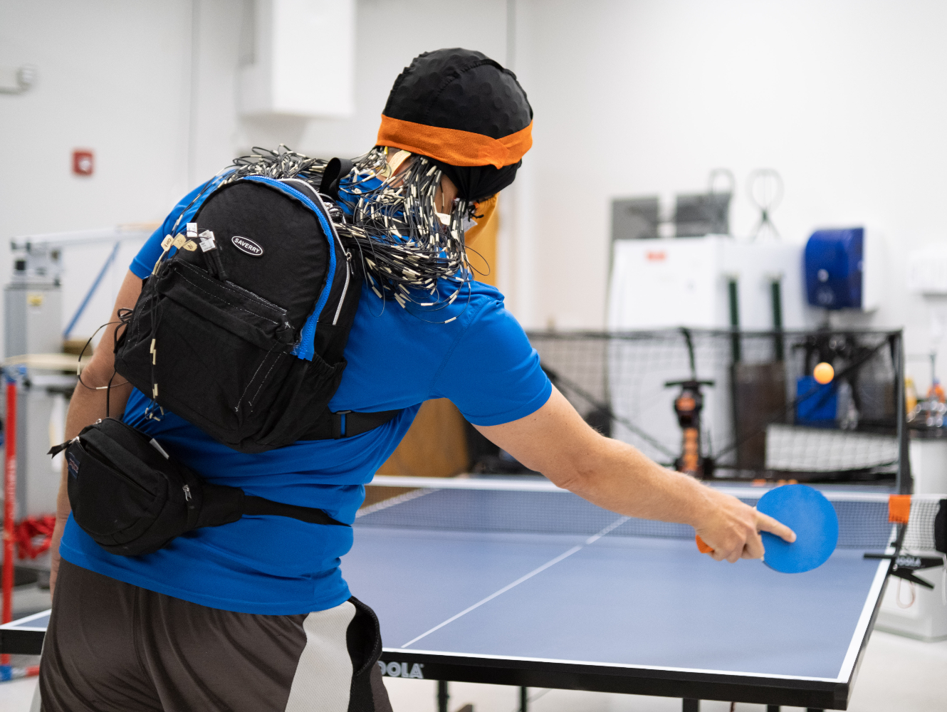
[[[776,534],[787,542],[795,542],[795,532],[773,517],[744,505],[736,497],[718,490],[704,488],[708,500],[700,507],[700,518],[692,522],[697,536],[713,548],[710,556],[717,561],[762,559],[760,531]]]

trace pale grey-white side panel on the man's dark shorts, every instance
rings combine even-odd
[[[347,712],[352,661],[346,633],[354,617],[350,601],[306,616],[306,647],[299,655],[286,712]]]

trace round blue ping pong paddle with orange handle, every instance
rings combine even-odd
[[[795,531],[789,543],[760,532],[766,553],[763,563],[784,574],[812,571],[828,561],[838,543],[838,516],[835,507],[819,490],[807,485],[782,485],[759,498],[757,509]],[[703,545],[702,545],[703,544]],[[697,538],[697,547],[708,554],[713,549]]]

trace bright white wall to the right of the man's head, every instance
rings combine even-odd
[[[928,349],[904,268],[908,250],[947,233],[947,4],[520,1],[538,176],[527,324],[602,325],[613,197],[700,191],[727,167],[731,224],[746,235],[758,217],[746,178],[767,167],[785,181],[773,215],[784,240],[820,226],[884,232],[889,291],[868,321],[906,325],[908,350]]]

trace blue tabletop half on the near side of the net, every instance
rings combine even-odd
[[[788,575],[692,539],[586,541],[356,525],[342,571],[388,649],[834,679],[879,568],[850,549]]]

